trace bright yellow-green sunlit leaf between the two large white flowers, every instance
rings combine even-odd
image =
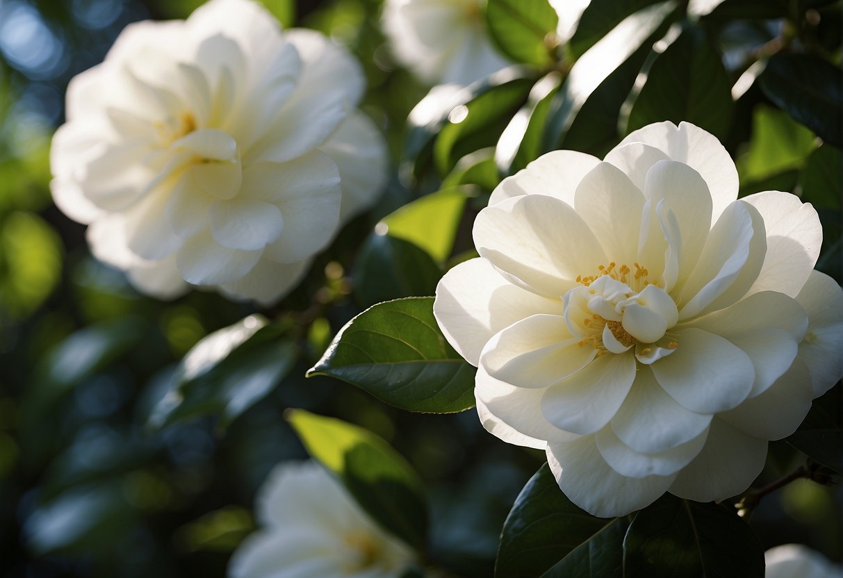
[[[409,241],[424,249],[434,260],[443,262],[454,248],[465,199],[459,188],[425,195],[384,217],[385,233]]]

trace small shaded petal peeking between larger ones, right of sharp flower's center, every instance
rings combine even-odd
[[[752,361],[755,381],[749,397],[754,397],[769,388],[791,367],[797,354],[797,340],[781,329],[757,329],[728,338]]]

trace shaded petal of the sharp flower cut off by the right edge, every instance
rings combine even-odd
[[[830,276],[811,271],[796,300],[808,313],[799,359],[808,364],[818,398],[843,377],[843,291]]]

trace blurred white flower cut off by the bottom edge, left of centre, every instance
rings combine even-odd
[[[262,528],[228,565],[231,578],[397,578],[416,559],[318,463],[283,463],[256,500]]]

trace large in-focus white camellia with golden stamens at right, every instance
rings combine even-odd
[[[816,211],[737,196],[726,150],[688,123],[646,126],[602,162],[548,153],[502,181],[475,221],[480,258],[439,283],[486,429],[546,449],[594,515],[739,494],[843,375]]]

